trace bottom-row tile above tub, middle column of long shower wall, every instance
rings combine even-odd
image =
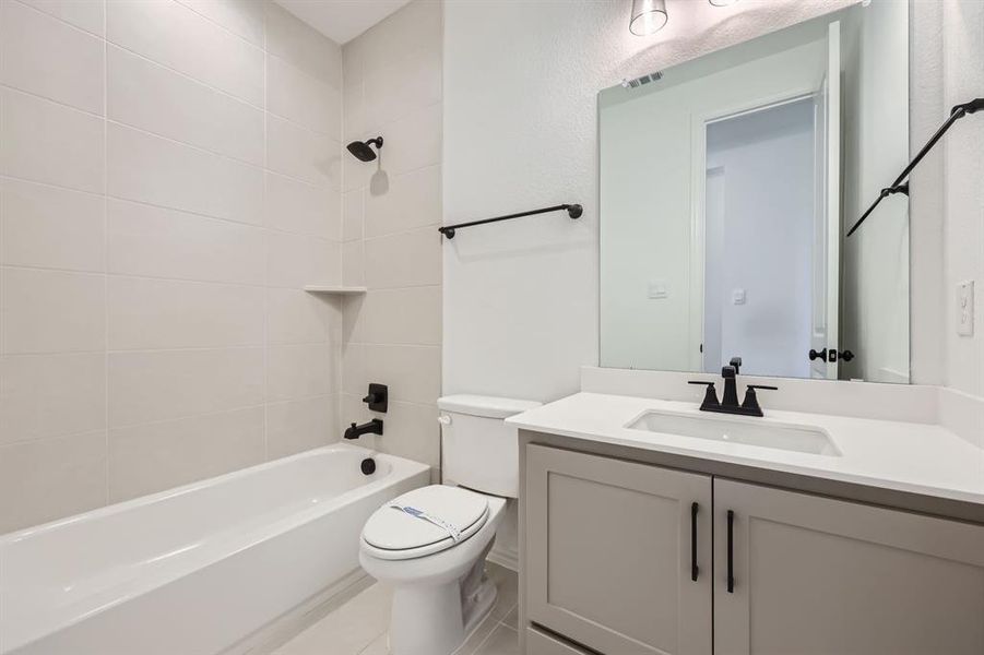
[[[109,431],[109,501],[169,489],[263,462],[263,408]]]

